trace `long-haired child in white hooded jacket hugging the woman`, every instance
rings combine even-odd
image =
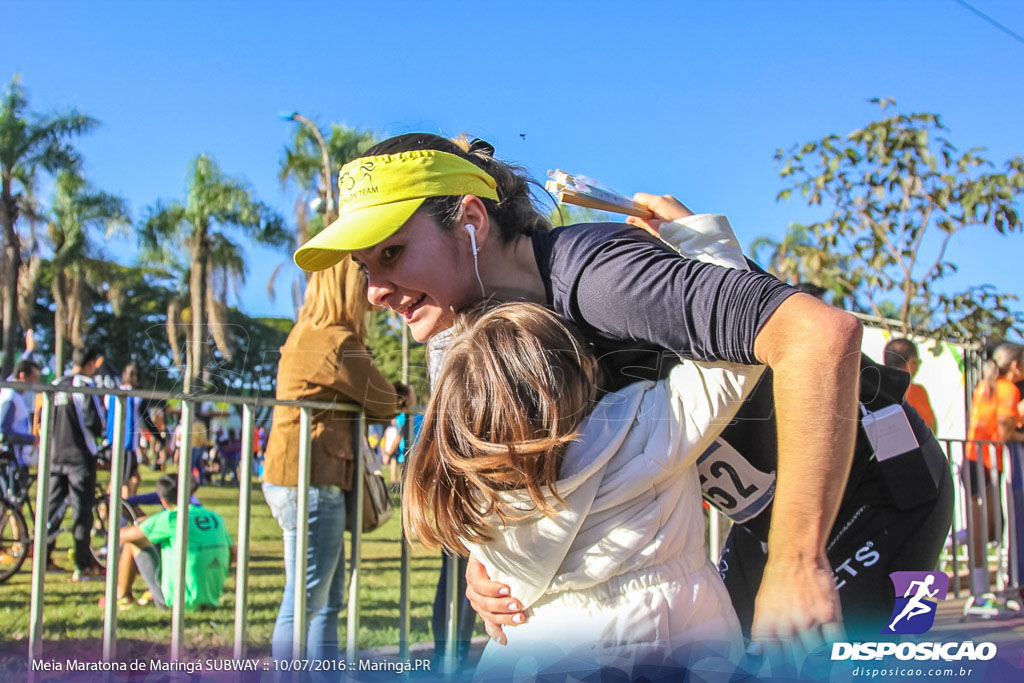
[[[673,241],[707,251],[716,230],[731,238],[724,219],[703,228]],[[722,253],[742,265],[738,249]],[[694,461],[760,373],[682,362],[598,399],[597,361],[557,314],[515,303],[461,321],[403,515],[427,546],[472,552],[529,609],[507,647],[488,643],[477,677],[728,678],[739,627],[708,558]]]

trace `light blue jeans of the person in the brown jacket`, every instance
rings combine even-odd
[[[298,490],[263,483],[263,497],[285,537],[285,595],[273,625],[274,659],[292,658],[295,624],[295,539]],[[338,658],[338,613],[345,598],[345,497],[338,486],[309,487],[306,553],[306,657]]]

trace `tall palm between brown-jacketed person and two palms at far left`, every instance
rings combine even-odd
[[[285,247],[292,242],[281,217],[257,202],[245,182],[224,174],[208,156],[191,162],[188,176],[185,203],[158,202],[146,211],[139,228],[143,257],[187,272],[190,337],[186,335],[185,391],[197,386],[203,372],[208,333],[222,353],[230,354],[221,297],[226,296],[229,275],[244,275],[245,259],[226,230],[237,228],[259,244]],[[180,303],[175,314],[183,312]],[[173,334],[172,345],[177,333]]]

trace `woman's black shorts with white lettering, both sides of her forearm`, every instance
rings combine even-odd
[[[941,456],[934,438],[920,439],[931,455]],[[857,500],[856,494],[852,497]],[[877,640],[894,604],[892,571],[935,569],[952,522],[953,485],[948,470],[936,498],[908,510],[869,502],[845,505],[826,546],[851,640]],[[754,598],[767,561],[761,540],[743,528],[729,532],[719,571],[748,638],[754,621]]]

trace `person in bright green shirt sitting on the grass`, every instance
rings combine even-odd
[[[173,604],[178,547],[176,476],[160,477],[157,495],[164,507],[161,512],[145,517],[138,525],[121,528],[122,549],[118,564],[118,606],[121,608],[134,604],[132,584],[138,575],[145,581],[148,594],[139,604],[153,602],[160,608]],[[217,606],[233,554],[231,537],[221,516],[202,506],[189,506],[185,609]],[[102,606],[102,599],[99,604]]]

